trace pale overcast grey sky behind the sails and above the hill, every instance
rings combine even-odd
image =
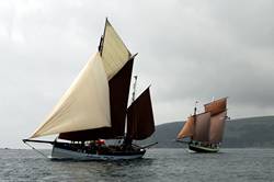
[[[0,0],[0,148],[27,138],[98,50],[109,18],[155,122],[228,98],[231,118],[274,115],[272,0]]]

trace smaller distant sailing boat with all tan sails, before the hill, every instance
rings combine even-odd
[[[191,115],[178,134],[178,141],[187,143],[189,149],[196,152],[217,152],[222,140],[227,120],[227,98],[204,105],[204,113]],[[182,140],[190,138],[190,141]]]

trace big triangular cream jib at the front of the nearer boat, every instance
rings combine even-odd
[[[109,81],[96,53],[31,138],[111,126],[110,113]]]

